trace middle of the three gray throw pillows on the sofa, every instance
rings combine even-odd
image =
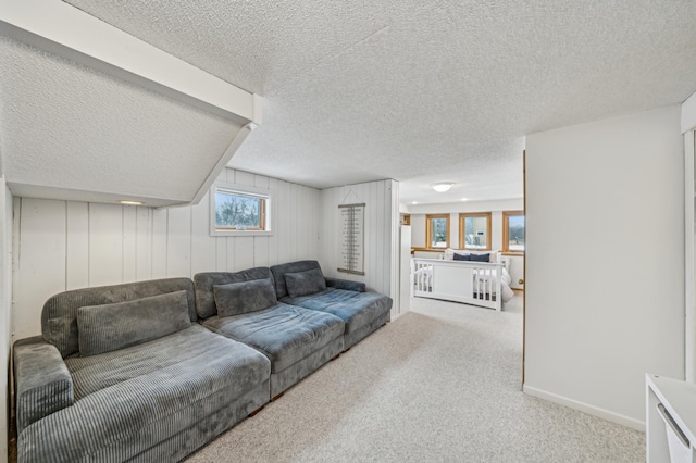
[[[214,285],[213,295],[219,316],[256,312],[278,303],[271,278]]]

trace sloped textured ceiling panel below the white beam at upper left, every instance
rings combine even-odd
[[[0,83],[3,174],[17,196],[188,202],[239,129],[9,38]]]

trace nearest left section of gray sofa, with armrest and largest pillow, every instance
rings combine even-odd
[[[263,406],[269,360],[194,301],[188,278],[49,299],[14,346],[17,461],[178,461]]]

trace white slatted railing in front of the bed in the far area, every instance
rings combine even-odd
[[[502,309],[502,264],[411,259],[413,297]]]

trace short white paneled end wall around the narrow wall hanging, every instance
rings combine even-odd
[[[322,271],[327,276],[362,281],[368,289],[388,295],[398,309],[398,290],[393,272],[398,275],[398,183],[378,180],[366,184],[322,190],[321,254]],[[365,205],[364,224],[364,275],[338,272],[340,215],[338,204],[361,203]],[[395,264],[396,261],[396,266]]]

